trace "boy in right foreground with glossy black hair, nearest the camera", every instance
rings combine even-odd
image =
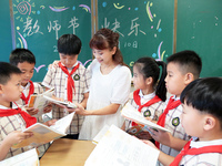
[[[221,96],[222,79],[219,77],[199,79],[183,90],[181,124],[193,138],[175,158],[160,152],[159,160],[163,165],[222,165]]]

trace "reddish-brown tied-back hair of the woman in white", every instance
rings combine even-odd
[[[97,31],[97,33],[90,40],[91,49],[112,50],[114,46],[117,48],[117,51],[113,54],[112,59],[117,64],[123,65],[124,63],[123,63],[122,53],[119,49],[119,33],[113,32],[110,29],[103,28]]]

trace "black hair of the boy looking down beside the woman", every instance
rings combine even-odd
[[[59,53],[77,55],[81,51],[82,42],[74,34],[63,34],[59,38],[57,46]]]

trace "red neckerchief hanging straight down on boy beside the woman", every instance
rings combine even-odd
[[[68,75],[68,81],[67,81],[67,96],[68,96],[68,101],[72,102],[72,87],[74,89],[74,81],[72,79],[72,74],[77,71],[77,69],[79,68],[79,63],[78,65],[75,65],[72,71],[69,73],[69,71],[67,70],[65,66],[63,66],[61,64],[61,62],[59,62],[59,66],[61,68],[61,70]],[[74,89],[74,94],[75,94],[75,89]]]

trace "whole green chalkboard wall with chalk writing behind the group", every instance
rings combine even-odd
[[[24,28],[20,19],[26,20],[28,17],[20,14],[19,18],[17,7],[24,2],[33,6],[32,12],[28,15],[32,19],[32,28],[38,20],[38,24],[46,28],[41,31],[44,35],[38,33],[27,37],[28,32],[21,33]],[[82,21],[77,29],[77,34],[83,41],[80,56],[83,64],[89,64],[92,60],[88,43],[94,29],[105,27],[120,32],[120,49],[125,63],[130,66],[144,55],[165,61],[174,51],[194,50],[203,61],[202,77],[222,76],[221,0],[130,0],[127,2],[123,0],[9,0],[0,1],[0,6],[6,7],[0,10],[0,61],[8,61],[10,51],[16,46],[24,46],[22,43],[27,41],[28,49],[34,52],[38,62],[33,81],[41,82],[48,64],[59,59],[56,32],[52,24],[51,32],[46,24],[50,21],[53,23],[54,20],[69,23],[69,19],[74,15]],[[62,33],[72,33],[72,31],[62,30],[58,35]],[[48,56],[49,54],[51,56]]]

